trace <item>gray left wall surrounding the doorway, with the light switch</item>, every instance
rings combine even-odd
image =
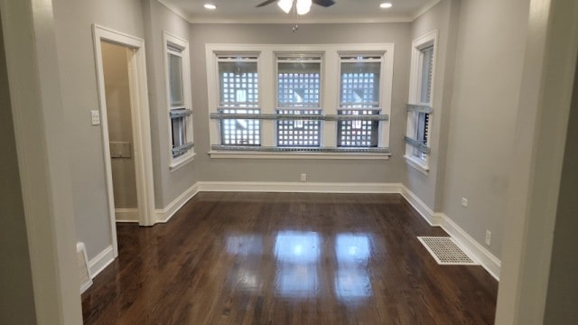
[[[111,243],[100,126],[90,125],[98,109],[92,23],[145,41],[150,95],[155,208],[163,209],[192,186],[196,162],[169,171],[170,140],[164,96],[163,31],[189,38],[190,24],[155,0],[53,0],[61,66],[62,100],[70,148],[77,236],[89,259]]]

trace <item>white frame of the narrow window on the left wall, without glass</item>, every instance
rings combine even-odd
[[[175,51],[173,49],[180,49],[181,51]],[[169,55],[177,55],[181,57],[181,77],[182,77],[182,100],[183,106],[174,108],[171,103],[171,71],[169,69]],[[167,126],[168,126],[168,155],[169,155],[169,169],[174,172],[180,169],[187,163],[190,163],[195,156],[194,152],[194,139],[193,139],[193,128],[192,128],[192,95],[191,95],[191,57],[189,42],[181,37],[175,36],[170,32],[163,32],[163,66],[164,66],[164,82],[165,82],[165,100],[167,107]],[[172,153],[172,117],[171,113],[175,112],[177,109],[188,110],[187,116],[183,116],[184,129],[185,129],[185,144],[191,144],[185,153],[179,156],[174,156]],[[190,110],[190,111],[189,111]],[[179,117],[177,117],[179,118]]]

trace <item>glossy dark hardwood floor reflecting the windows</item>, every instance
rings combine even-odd
[[[85,324],[491,324],[498,283],[442,266],[397,194],[200,193],[82,295]]]

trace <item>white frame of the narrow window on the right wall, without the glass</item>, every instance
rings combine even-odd
[[[408,104],[423,107],[422,112],[419,110],[407,109],[407,123],[406,123],[406,163],[413,167],[418,172],[422,172],[425,175],[429,174],[429,162],[431,158],[431,140],[432,140],[432,125],[433,125],[433,100],[434,100],[434,90],[435,90],[435,71],[437,62],[437,36],[438,31],[433,30],[427,32],[424,35],[416,38],[412,42],[412,58],[411,58],[411,70],[410,70],[410,83],[409,83],[409,97]],[[432,59],[432,84],[430,88],[430,100],[429,103],[421,102],[421,90],[423,81],[423,51],[429,47],[433,46],[433,59]],[[428,128],[427,128],[427,143],[424,144],[426,152],[424,152],[425,159],[415,156],[414,151],[415,145],[411,144],[415,140],[416,125],[419,123],[420,114],[428,115]]]

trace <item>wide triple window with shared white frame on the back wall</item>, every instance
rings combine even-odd
[[[389,156],[393,44],[207,44],[206,55],[212,158]]]

